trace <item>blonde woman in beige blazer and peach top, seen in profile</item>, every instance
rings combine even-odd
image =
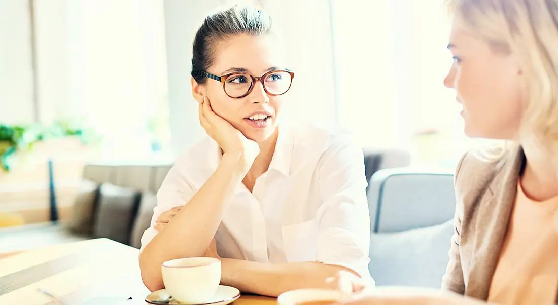
[[[558,0],[451,0],[454,56],[444,84],[469,137],[442,287],[373,304],[554,304],[558,295]],[[411,293],[413,294],[413,293]],[[461,294],[468,298],[456,298]]]

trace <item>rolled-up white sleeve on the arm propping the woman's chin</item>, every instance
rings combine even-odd
[[[180,172],[180,163],[171,167],[169,173],[157,191],[157,205],[153,208],[151,225],[143,232],[140,251],[157,235],[155,221],[175,206],[184,206],[194,196],[194,189],[185,175]]]

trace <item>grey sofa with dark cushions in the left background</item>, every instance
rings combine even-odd
[[[91,238],[139,248],[170,164],[88,164],[71,218],[0,229],[0,253]]]

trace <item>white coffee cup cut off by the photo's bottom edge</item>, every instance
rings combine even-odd
[[[350,294],[333,289],[297,289],[280,294],[277,303],[280,305],[304,305],[304,303],[310,302],[333,304],[348,298],[350,298]]]

